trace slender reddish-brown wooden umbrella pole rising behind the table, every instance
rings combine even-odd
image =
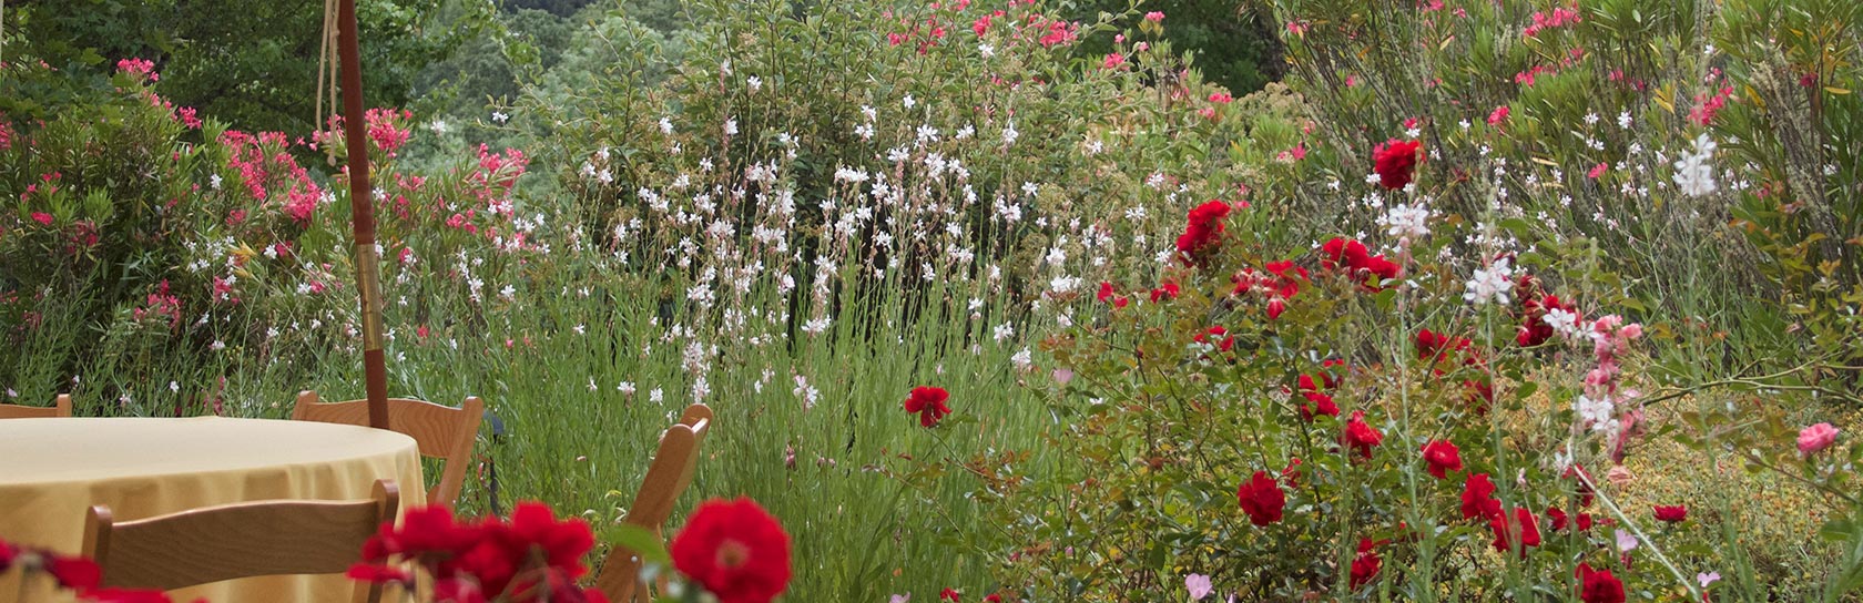
[[[382,354],[382,257],[374,251],[374,188],[363,140],[361,47],[356,0],[337,9],[337,54],[343,61],[343,138],[348,147],[350,218],[356,223],[356,288],[361,294],[361,365],[369,389],[369,426],[388,428],[388,359]],[[326,141],[330,143],[330,141]]]

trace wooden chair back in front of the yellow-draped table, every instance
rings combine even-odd
[[[298,573],[345,573],[382,523],[395,521],[401,489],[376,480],[369,501],[263,501],[116,523],[108,506],[84,521],[84,556],[101,586],[175,590]],[[354,601],[380,601],[380,584],[356,584]]]

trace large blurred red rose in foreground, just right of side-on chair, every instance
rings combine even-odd
[[[790,534],[747,497],[699,504],[671,553],[721,603],[768,603],[790,584]]]

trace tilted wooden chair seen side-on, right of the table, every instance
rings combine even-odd
[[[712,428],[712,408],[693,404],[686,408],[680,422],[660,436],[660,452],[641,478],[641,491],[628,508],[622,521],[648,529],[665,542],[661,525],[673,516],[673,502],[680,499],[686,486],[693,482],[693,469],[699,467],[699,445]],[[667,590],[665,575],[658,581],[658,590]],[[594,579],[594,588],[613,603],[652,601],[652,594],[641,584],[641,558],[633,551],[615,547],[602,562],[602,573]]]

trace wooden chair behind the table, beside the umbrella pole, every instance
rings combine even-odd
[[[369,426],[369,402],[319,402],[315,391],[298,393],[298,406],[291,409],[291,421],[317,421]],[[421,447],[421,456],[445,458],[440,471],[440,484],[427,491],[427,504],[453,506],[466,484],[466,469],[471,467],[471,445],[479,437],[479,422],[484,421],[484,402],[468,396],[460,408],[410,400],[388,398],[388,426],[414,437]]]

